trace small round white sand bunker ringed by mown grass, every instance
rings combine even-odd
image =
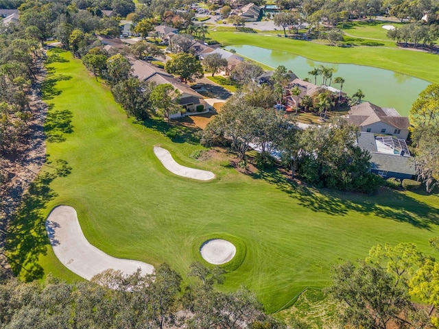
[[[235,257],[236,247],[226,240],[213,239],[202,244],[200,254],[206,262],[221,265],[230,262]]]

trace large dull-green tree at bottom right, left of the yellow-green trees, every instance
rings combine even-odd
[[[327,292],[341,305],[342,324],[362,328],[387,329],[410,326],[414,312],[410,297],[396,286],[392,276],[381,267],[360,262],[356,267],[348,262],[333,267],[333,285]]]

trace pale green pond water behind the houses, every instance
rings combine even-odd
[[[273,41],[276,39],[273,38]],[[314,77],[308,72],[320,64],[331,66],[334,69],[334,77],[344,79],[343,91],[352,96],[358,89],[364,93],[364,100],[370,101],[383,108],[395,108],[401,115],[407,116],[412,103],[418,98],[429,82],[410,77],[401,73],[376,69],[369,66],[355,64],[333,64],[317,62],[308,58],[294,55],[286,51],[277,51],[248,45],[235,45],[226,47],[252,60],[276,68],[279,65],[292,70],[300,79],[309,77],[314,83]],[[317,77],[317,84],[322,83],[322,77]],[[340,84],[331,84],[340,88]]]

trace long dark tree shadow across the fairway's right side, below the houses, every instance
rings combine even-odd
[[[381,188],[377,195],[362,195],[312,188],[289,180],[276,169],[258,171],[252,174],[255,179],[263,179],[276,188],[289,194],[298,203],[314,212],[344,216],[348,212],[361,212],[401,223],[410,223],[416,228],[431,230],[439,224],[439,212],[427,204],[389,188]]]

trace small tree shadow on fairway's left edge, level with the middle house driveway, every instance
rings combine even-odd
[[[53,104],[49,105],[49,109],[51,108],[53,108]],[[64,142],[66,140],[64,134],[73,132],[72,118],[73,112],[70,110],[49,110],[44,125],[47,141],[53,143]]]

